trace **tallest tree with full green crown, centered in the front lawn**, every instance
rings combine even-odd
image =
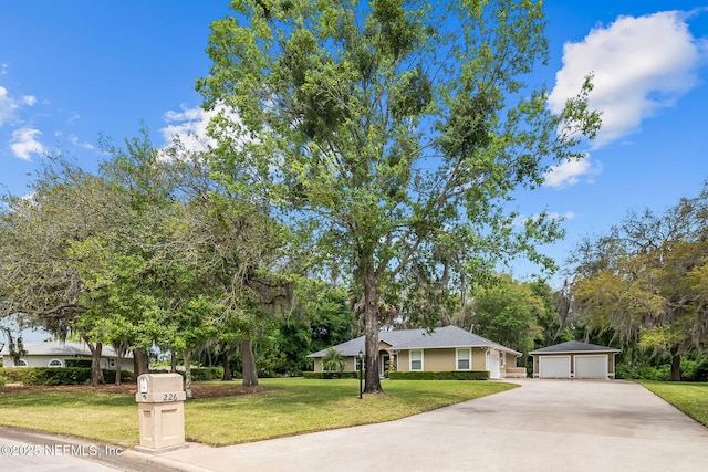
[[[363,287],[366,392],[381,392],[382,300],[434,287],[445,254],[487,270],[559,237],[506,209],[598,126],[585,92],[555,116],[525,80],[548,53],[541,2],[237,0],[198,80],[226,174],[284,203]],[[527,78],[524,78],[527,77]],[[238,118],[233,118],[238,116]],[[239,175],[244,175],[240,172]],[[239,185],[242,183],[239,181]],[[415,264],[414,264],[415,262]]]

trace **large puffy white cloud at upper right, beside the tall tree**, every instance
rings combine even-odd
[[[708,42],[693,36],[689,13],[663,11],[620,17],[611,25],[593,29],[577,43],[563,46],[563,69],[549,96],[560,112],[589,73],[594,74],[592,108],[601,111],[603,126],[594,146],[602,147],[639,129],[697,85],[697,67],[707,57]]]

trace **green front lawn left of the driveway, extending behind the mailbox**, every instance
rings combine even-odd
[[[460,380],[387,380],[385,395],[358,399],[358,380],[261,379],[260,394],[185,403],[188,441],[227,445],[389,421],[513,388]],[[0,394],[0,424],[71,434],[122,447],[138,441],[131,395],[75,391]]]

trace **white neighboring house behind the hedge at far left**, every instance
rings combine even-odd
[[[91,358],[91,349],[86,343],[67,340],[51,340],[46,343],[25,344],[25,355],[20,357],[19,365],[14,365],[10,352],[6,347],[0,350],[3,367],[66,367],[66,359],[72,357]],[[115,370],[118,356],[111,346],[101,349],[101,368]],[[122,370],[133,370],[133,353],[127,353],[121,364]]]

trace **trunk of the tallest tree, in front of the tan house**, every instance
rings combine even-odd
[[[369,268],[373,268],[373,262]],[[383,394],[378,376],[378,281],[373,269],[364,273],[366,376],[364,394]]]

